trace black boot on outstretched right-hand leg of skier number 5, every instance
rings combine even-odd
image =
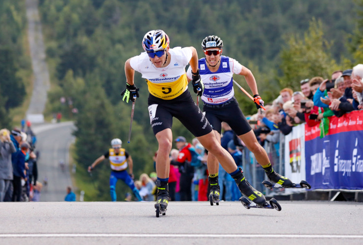
[[[232,176],[237,184],[239,191],[242,195],[248,197],[251,201],[255,202],[259,206],[263,206],[266,203],[266,198],[262,193],[257,191],[251,186],[242,174],[242,169],[238,168],[239,172]]]

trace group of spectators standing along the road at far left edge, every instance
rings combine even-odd
[[[39,201],[36,136],[31,123],[22,130],[0,130],[0,201]]]

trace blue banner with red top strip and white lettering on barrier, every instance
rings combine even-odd
[[[363,111],[329,119],[324,138],[305,125],[306,180],[311,189],[363,189]]]

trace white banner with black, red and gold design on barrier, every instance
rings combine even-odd
[[[285,176],[294,183],[305,180],[305,123],[292,128],[285,136]],[[285,193],[305,189],[285,189]]]

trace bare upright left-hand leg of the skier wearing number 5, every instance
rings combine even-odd
[[[169,178],[170,160],[169,154],[173,142],[173,134],[170,128],[156,133],[156,140],[159,144],[156,155],[156,175],[159,178]]]

